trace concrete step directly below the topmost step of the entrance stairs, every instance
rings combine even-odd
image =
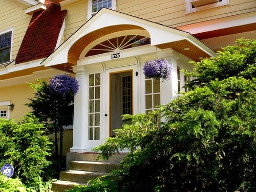
[[[99,161],[71,161],[70,170],[89,171],[89,172],[111,172],[119,168],[117,162]]]

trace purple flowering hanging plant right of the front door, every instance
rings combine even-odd
[[[166,59],[154,59],[145,62],[142,69],[144,75],[148,78],[162,78],[163,80],[167,80],[170,78],[172,66]]]

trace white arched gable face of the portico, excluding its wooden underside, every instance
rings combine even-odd
[[[88,20],[82,27],[80,27],[69,39],[61,44],[58,49],[55,50],[55,52],[53,52],[41,64],[44,64],[45,66],[53,66],[61,63],[67,63],[68,52],[71,46],[78,39],[98,29],[116,25],[134,25],[144,28],[150,34],[151,45],[185,40],[192,37],[189,33],[181,30],[177,30],[174,28],[160,25],[155,22],[103,8],[95,16]],[[195,38],[193,38],[193,44],[195,44],[202,50],[207,47]],[[215,53],[210,50],[209,47],[207,47],[207,51],[205,52],[210,52],[210,55],[212,56],[215,55]]]

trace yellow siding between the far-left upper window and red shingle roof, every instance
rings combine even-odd
[[[26,8],[28,6],[16,0],[0,1],[0,32],[14,28],[12,60],[16,58],[31,18],[30,15],[25,14]]]

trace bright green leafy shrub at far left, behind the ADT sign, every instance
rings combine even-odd
[[[45,127],[32,114],[27,114],[18,123],[0,119],[0,166],[10,163],[14,176],[27,187],[39,190],[42,187],[44,169],[50,164],[51,142],[44,136]]]

